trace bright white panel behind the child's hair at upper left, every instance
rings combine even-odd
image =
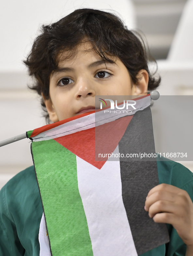
[[[134,27],[133,7],[129,0],[8,0],[0,6],[0,70],[23,70],[22,60],[31,49],[41,24],[59,20],[76,8],[114,9],[127,16],[126,22]]]

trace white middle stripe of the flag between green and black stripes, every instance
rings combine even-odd
[[[137,256],[122,200],[120,162],[106,161],[98,169],[78,156],[76,161],[94,256]]]

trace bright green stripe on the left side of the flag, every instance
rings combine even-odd
[[[32,152],[52,255],[92,256],[76,155],[55,140],[32,142]]]

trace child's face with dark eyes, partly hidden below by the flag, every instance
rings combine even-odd
[[[50,120],[61,121],[95,109],[95,95],[141,95],[147,92],[148,74],[140,70],[139,84],[132,86],[127,68],[119,60],[108,63],[91,49],[78,46],[77,55],[59,61],[50,76],[50,99],[45,100]],[[65,54],[63,56],[65,58]],[[143,84],[142,86],[140,84]]]

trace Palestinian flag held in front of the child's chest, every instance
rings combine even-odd
[[[150,96],[136,102],[131,113],[93,111],[27,132],[44,211],[40,256],[137,256],[169,242],[144,210],[156,161],[98,157],[155,151]]]

